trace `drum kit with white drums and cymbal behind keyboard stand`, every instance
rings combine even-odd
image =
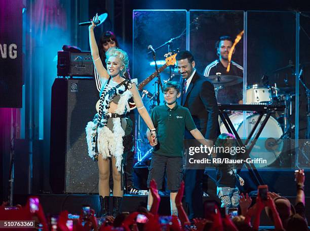
[[[233,75],[213,75],[208,77],[214,84],[216,96],[218,90],[227,86],[233,86],[243,82],[243,78]],[[246,104],[247,105],[285,105],[284,112],[277,112],[269,117],[265,127],[263,128],[259,139],[252,151],[250,157],[263,158],[267,163],[256,163],[255,167],[267,167],[274,163],[285,149],[284,139],[292,138],[291,123],[292,116],[292,99],[294,98],[293,87],[277,87],[269,85],[249,85],[246,88]],[[229,118],[242,139],[246,139],[254,127],[259,115],[257,113],[243,113],[233,111]],[[265,118],[263,116],[262,120]],[[219,119],[221,133],[227,132],[225,125]],[[257,132],[259,126],[255,130]],[[282,160],[280,159],[280,165]]]

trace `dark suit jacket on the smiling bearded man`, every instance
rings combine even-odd
[[[196,70],[186,94],[182,96],[181,105],[189,109],[198,130],[211,140],[219,134],[218,106],[214,86],[211,81]],[[186,131],[185,138],[193,138]]]

